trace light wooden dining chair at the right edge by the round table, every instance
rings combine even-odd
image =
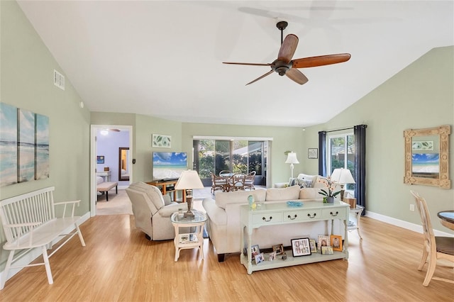
[[[421,271],[424,264],[428,262],[428,269],[426,278],[423,281],[423,286],[428,286],[431,279],[454,284],[454,280],[433,276],[438,259],[446,259],[454,262],[454,237],[440,237],[433,234],[431,215],[428,211],[426,200],[419,196],[415,191],[410,190],[410,192],[416,199],[416,206],[423,225],[424,249],[423,257],[418,267],[418,270]]]

